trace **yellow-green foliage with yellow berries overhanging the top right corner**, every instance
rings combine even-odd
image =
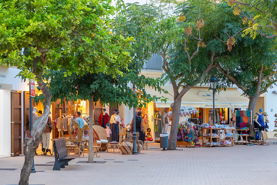
[[[247,23],[243,35],[250,34],[255,38],[257,34],[265,38],[277,36],[277,1],[265,0],[228,0],[228,4],[233,8],[235,15],[242,17],[243,22]]]

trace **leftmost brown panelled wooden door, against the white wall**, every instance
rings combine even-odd
[[[21,151],[21,91],[11,92],[11,135],[12,135],[12,156],[22,154]]]

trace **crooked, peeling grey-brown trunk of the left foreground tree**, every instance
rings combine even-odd
[[[32,169],[35,151],[39,147],[40,140],[42,139],[42,133],[46,127],[46,123],[48,121],[48,116],[50,111],[52,95],[49,91],[49,88],[42,81],[42,78],[40,77],[40,75],[37,75],[37,77],[40,80],[37,83],[44,96],[44,106],[43,106],[44,112],[42,116],[35,119],[33,123],[32,131],[30,134],[32,138],[27,137],[27,134],[25,135],[25,141],[24,141],[24,151],[26,151],[24,153],[25,161],[21,169],[19,185],[25,185],[29,183],[29,176]]]

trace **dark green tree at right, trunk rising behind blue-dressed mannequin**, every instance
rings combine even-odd
[[[252,110],[253,115],[259,96],[277,82],[277,53],[273,51],[274,47],[273,39],[260,35],[254,40],[238,36],[237,51],[232,59],[217,63],[217,68],[225,77],[219,75],[219,79],[229,86],[237,85],[245,96],[249,96],[248,110]]]

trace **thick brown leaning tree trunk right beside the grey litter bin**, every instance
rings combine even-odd
[[[176,150],[176,138],[178,132],[178,125],[180,120],[180,108],[181,108],[182,98],[175,99],[174,103],[171,104],[172,117],[171,117],[171,129],[168,141],[168,150]]]

